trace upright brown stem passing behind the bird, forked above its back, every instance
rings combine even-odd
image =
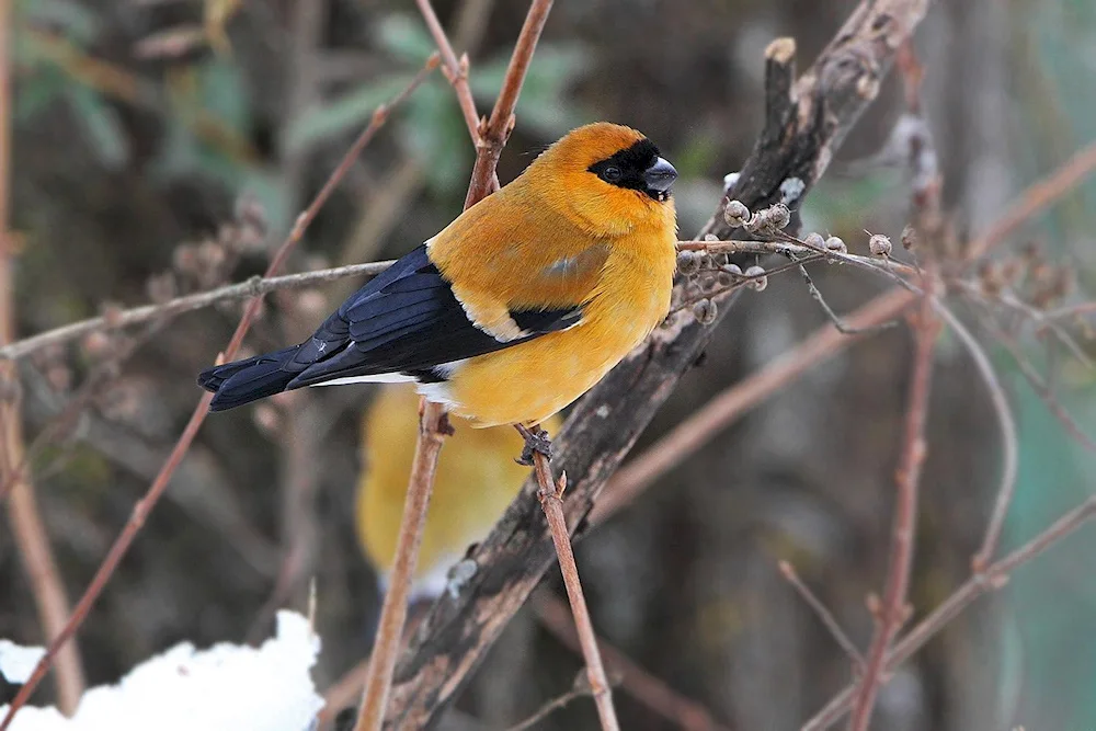
[[[426,18],[427,25],[431,25],[432,33],[438,43],[443,56],[452,62],[454,54],[448,46],[437,16],[434,14],[430,2],[420,2],[420,9]],[[521,91],[525,73],[528,70],[536,49],[540,31],[544,28],[544,21],[551,9],[550,0],[534,0],[529,7],[529,12],[522,26],[517,45],[510,59],[506,76],[502,83],[502,93],[495,102],[491,118],[503,116],[512,119],[514,106],[517,104],[517,94]],[[452,68],[452,66],[450,66]],[[458,80],[461,80],[458,78]],[[454,81],[450,78],[450,81]],[[463,79],[464,88],[467,87],[467,78]],[[461,85],[454,81],[454,88],[458,96],[461,95]],[[470,92],[469,92],[470,93]],[[475,110],[473,110],[475,112]],[[470,129],[470,132],[472,132]],[[471,181],[468,186],[468,195],[465,198],[465,209],[467,210],[481,199],[487,197],[498,187],[495,176],[495,164],[502,146],[506,142],[506,137],[499,137],[494,128],[487,125],[487,133],[494,135],[492,140],[499,140],[498,148],[494,144],[484,144],[484,135],[478,137],[473,133],[472,140],[476,142],[476,164],[472,168]],[[507,130],[509,136],[509,130]],[[499,155],[495,155],[498,152]],[[490,164],[486,163],[491,157]],[[400,521],[399,536],[397,538],[396,560],[389,576],[389,587],[385,593],[385,601],[380,610],[380,621],[377,626],[377,638],[374,642],[373,654],[369,658],[369,674],[366,679],[365,690],[362,693],[362,707],[355,731],[379,731],[385,719],[385,711],[388,708],[388,697],[392,686],[392,673],[396,669],[396,660],[399,655],[400,641],[403,635],[403,625],[407,620],[407,601],[411,592],[412,574],[419,557],[419,544],[422,540],[422,529],[426,522],[426,509],[430,505],[430,495],[434,487],[434,472],[437,469],[437,458],[441,454],[444,436],[450,432],[445,418],[445,409],[441,404],[432,403],[423,399],[421,401],[421,418],[419,426],[419,442],[415,446],[414,461],[412,462],[411,477],[408,483],[408,494],[403,503],[403,516]],[[3,731],[0,729],[0,731]]]

